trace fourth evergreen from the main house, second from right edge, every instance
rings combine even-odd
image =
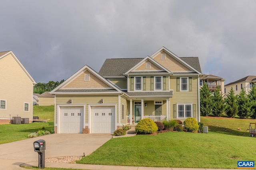
[[[240,118],[248,118],[252,115],[254,112],[254,109],[252,109],[253,103],[248,98],[248,95],[246,94],[244,88],[242,88],[238,98],[238,113],[237,115]]]

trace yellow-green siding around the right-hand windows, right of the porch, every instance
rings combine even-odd
[[[191,92],[177,92],[176,77],[170,77],[170,89],[173,89],[173,97],[170,98],[170,119],[174,119],[173,104],[192,103],[192,104],[196,104],[196,120],[198,120],[198,77],[192,77]],[[177,118],[177,119],[180,119],[180,118]],[[180,119],[180,120],[184,121],[185,119]]]

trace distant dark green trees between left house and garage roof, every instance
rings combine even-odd
[[[62,84],[65,80],[61,80],[60,82],[49,81],[48,83],[37,83],[34,85],[33,93],[42,94],[44,92],[50,92],[58,85]]]

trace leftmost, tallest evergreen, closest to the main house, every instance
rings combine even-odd
[[[212,113],[213,101],[212,92],[206,83],[200,89],[200,112],[202,116],[208,116]]]

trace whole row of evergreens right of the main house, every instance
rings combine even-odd
[[[218,87],[214,92],[211,92],[206,83],[200,89],[200,114],[208,116],[226,115],[228,117],[240,118],[256,118],[256,86],[253,84],[249,94],[246,94],[244,88],[238,95],[234,95],[233,88],[230,92],[224,95]]]

